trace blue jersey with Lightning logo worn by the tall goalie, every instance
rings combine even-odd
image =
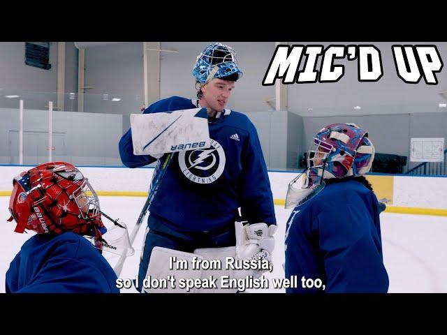
[[[144,113],[197,107],[197,101],[174,96],[150,105]],[[151,214],[177,230],[191,232],[233,223],[239,207],[251,223],[276,224],[267,167],[254,125],[244,114],[225,110],[208,126],[211,147],[175,153],[149,207]],[[119,154],[129,168],[155,161],[152,156],[133,155],[131,129],[119,141]],[[154,173],[160,172],[160,166]]]

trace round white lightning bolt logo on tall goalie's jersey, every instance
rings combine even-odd
[[[182,151],[179,153],[179,167],[186,178],[197,184],[211,184],[217,181],[225,168],[225,152],[221,144],[210,140],[211,147]]]

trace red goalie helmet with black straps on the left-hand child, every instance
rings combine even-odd
[[[34,230],[39,234],[74,232],[101,240],[98,196],[78,168],[65,162],[38,165],[13,180],[9,201],[15,232]]]

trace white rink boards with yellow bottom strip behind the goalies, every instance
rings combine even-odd
[[[13,177],[31,167],[0,166],[0,196],[10,195]],[[80,167],[98,195],[147,196],[154,168]],[[269,171],[274,203],[284,204],[288,183],[299,172]],[[447,177],[368,174],[377,198],[390,213],[447,216]]]

